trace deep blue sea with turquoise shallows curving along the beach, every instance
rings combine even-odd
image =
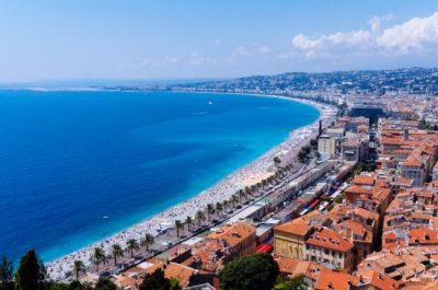
[[[114,234],[318,116],[249,95],[0,91],[0,255],[48,262]]]

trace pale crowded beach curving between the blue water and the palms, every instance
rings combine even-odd
[[[193,92],[191,92],[193,93]],[[245,95],[244,93],[242,93]],[[241,94],[241,95],[242,95]],[[47,271],[51,279],[62,280],[66,274],[71,271],[71,265],[76,259],[82,260],[85,265],[90,265],[90,255],[95,246],[102,246],[107,253],[114,243],[122,245],[128,239],[140,239],[146,232],[158,235],[158,230],[162,228],[171,228],[176,219],[185,220],[187,216],[194,217],[198,209],[204,209],[207,204],[216,204],[229,199],[238,189],[255,184],[270,174],[274,174],[273,169],[274,156],[280,156],[287,161],[295,158],[299,149],[306,144],[310,139],[314,138],[318,134],[319,120],[322,119],[324,125],[330,121],[334,109],[325,104],[315,103],[313,101],[293,98],[280,95],[263,95],[263,94],[246,94],[258,97],[276,97],[287,101],[295,101],[315,107],[320,116],[318,119],[304,127],[300,127],[289,132],[289,136],[279,144],[273,147],[267,152],[263,153],[257,159],[243,165],[237,171],[232,172],[218,183],[210,186],[208,189],[203,190],[196,196],[180,202],[160,213],[146,218],[138,223],[130,225],[122,232],[115,233],[106,239],[92,243],[83,248],[73,253],[61,256],[50,263],[46,263]],[[332,115],[331,115],[332,114]]]

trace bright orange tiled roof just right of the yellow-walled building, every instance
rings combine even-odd
[[[306,244],[344,253],[353,248],[351,242],[343,239],[336,231],[326,228],[319,228],[314,231],[308,241],[306,241]]]

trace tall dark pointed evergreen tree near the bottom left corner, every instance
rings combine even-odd
[[[16,290],[45,289],[46,269],[36,256],[35,250],[30,250],[20,260],[15,274]]]

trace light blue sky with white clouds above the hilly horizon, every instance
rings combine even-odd
[[[0,0],[0,82],[438,66],[435,0]]]

